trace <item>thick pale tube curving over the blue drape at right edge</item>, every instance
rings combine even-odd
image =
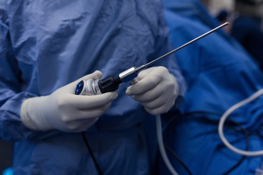
[[[223,114],[223,116],[221,117],[221,119],[219,121],[219,126],[218,126],[219,137],[223,141],[225,146],[228,147],[230,150],[234,151],[235,153],[238,153],[238,154],[241,154],[244,156],[262,156],[263,155],[263,150],[261,150],[261,151],[244,151],[244,150],[241,150],[241,149],[234,147],[231,143],[229,143],[226,140],[224,132],[223,132],[225,120],[233,111],[235,111],[236,109],[240,108],[241,106],[246,105],[246,104],[250,103],[251,101],[257,99],[262,94],[263,94],[263,89],[260,89],[257,92],[255,92],[254,94],[252,94],[251,96],[249,96],[248,98],[246,98],[246,99],[242,100],[241,102],[231,106],[229,109],[227,109],[225,111],[225,113]]]

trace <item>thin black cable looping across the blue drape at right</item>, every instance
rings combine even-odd
[[[211,115],[216,115],[216,116],[220,116],[220,117],[222,116],[222,114],[220,114],[220,113],[208,112],[208,111],[194,111],[194,112],[189,112],[189,113],[181,114],[181,116],[189,116],[189,115],[195,115],[195,114],[211,114]],[[170,124],[173,123],[173,122],[175,122],[178,118],[179,118],[179,117],[176,117],[175,119],[169,120],[168,123],[166,123],[166,125],[168,125],[167,128],[166,128],[166,130],[169,128]],[[218,123],[219,123],[219,121],[217,121],[217,120],[211,120],[211,119],[208,119],[208,118],[206,118],[206,117],[202,117],[202,118],[205,119],[205,120],[207,120],[208,122],[212,122],[212,123],[214,123],[214,124],[218,124]],[[253,135],[253,134],[254,134],[254,135],[258,135],[258,136],[261,137],[261,135],[258,134],[258,133],[249,133],[249,132],[247,132],[243,127],[241,127],[240,124],[235,123],[234,121],[232,121],[232,120],[230,120],[230,119],[227,119],[227,122],[233,123],[234,125],[238,126],[238,127],[241,129],[241,131],[244,133],[244,135],[245,135],[245,140],[246,140],[245,150],[248,150],[248,147],[249,147],[249,135]],[[226,126],[227,126],[227,125],[226,125]],[[228,127],[229,127],[229,124],[228,124]],[[234,128],[235,128],[235,127],[234,127]],[[238,130],[237,130],[237,131],[238,131]],[[167,147],[168,145],[165,145],[165,146]],[[168,147],[169,147],[169,146],[168,146]],[[168,148],[168,147],[167,147],[167,148]],[[188,172],[188,174],[189,174],[190,171],[188,171],[188,170],[189,170],[188,167],[183,163],[183,161],[180,159],[180,157],[178,157],[170,148],[168,148],[168,150],[169,150],[169,152],[178,160],[178,162],[185,168],[185,170],[186,170],[186,171]],[[227,174],[229,174],[230,172],[232,172],[233,170],[235,170],[240,164],[242,164],[242,162],[244,161],[245,157],[246,157],[246,156],[241,157],[241,159],[240,159],[234,166],[232,166],[229,170],[227,170],[223,175],[227,175]]]

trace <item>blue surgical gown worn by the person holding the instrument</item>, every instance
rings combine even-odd
[[[140,66],[168,52],[168,29],[159,0],[1,0],[0,137],[15,140],[14,174],[96,175],[79,133],[37,132],[20,120],[21,103],[48,95],[94,70],[103,77]],[[156,63],[185,85],[174,57]],[[149,116],[119,97],[87,132],[104,175],[147,175],[150,154],[142,130]],[[150,128],[150,127],[149,127]]]

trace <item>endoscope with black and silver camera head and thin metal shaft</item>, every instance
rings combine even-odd
[[[82,80],[79,83],[77,83],[76,88],[75,88],[75,94],[76,95],[98,95],[106,92],[111,92],[115,91],[119,88],[119,84],[123,82],[128,82],[131,81],[133,84],[136,83],[136,77],[137,74],[141,71],[152,65],[153,63],[163,59],[164,57],[170,55],[171,53],[175,53],[176,51],[186,47],[187,45],[217,31],[218,29],[221,29],[222,27],[225,27],[228,25],[228,22],[225,22],[224,24],[210,30],[209,32],[198,36],[197,38],[189,41],[188,43],[170,51],[169,53],[166,53],[158,58],[156,58],[153,61],[150,61],[149,63],[140,66],[139,68],[136,67],[131,67],[128,70],[125,70],[121,72],[117,76],[108,76],[106,78],[100,79],[100,80],[93,80],[93,79],[88,79],[88,80]]]

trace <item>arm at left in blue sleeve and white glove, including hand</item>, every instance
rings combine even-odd
[[[41,139],[46,134],[39,131],[87,130],[109,108],[117,94],[111,92],[96,97],[76,96],[75,82],[43,97],[22,91],[21,72],[12,53],[3,3],[0,2],[0,138]],[[83,78],[97,79],[100,76],[101,73],[95,71]]]

